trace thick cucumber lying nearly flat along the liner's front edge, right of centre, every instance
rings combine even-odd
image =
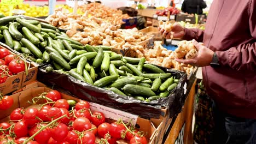
[[[133,95],[142,95],[146,97],[154,96],[156,95],[149,87],[143,87],[143,86],[138,86],[138,85],[132,85],[132,84],[127,84],[123,88],[125,93],[130,93]]]

